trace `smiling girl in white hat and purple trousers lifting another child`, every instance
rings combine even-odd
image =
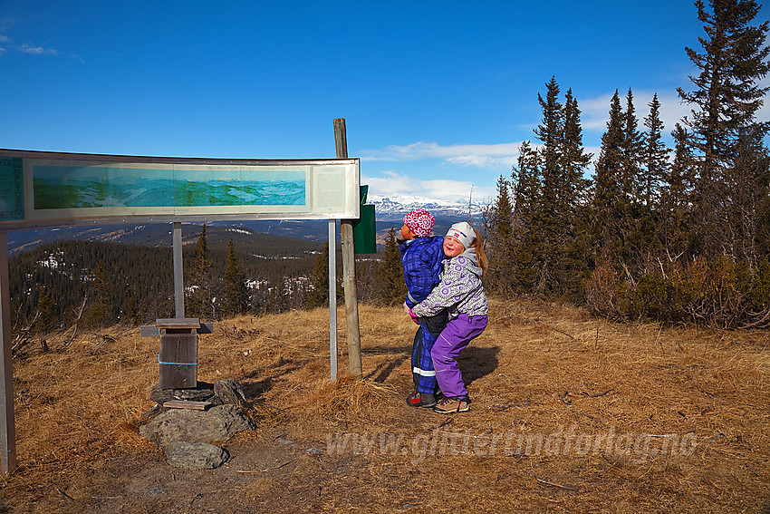
[[[444,261],[441,283],[409,314],[428,316],[448,308],[447,326],[430,353],[438,387],[445,396],[433,410],[448,414],[470,410],[470,398],[455,359],[484,332],[488,305],[481,284],[486,256],[476,230],[466,222],[456,223],[449,228],[443,246],[449,259]]]

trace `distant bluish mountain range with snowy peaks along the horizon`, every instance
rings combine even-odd
[[[467,200],[442,201],[418,196],[371,196],[368,203],[375,205],[377,242],[382,244],[388,230],[397,231],[409,210],[428,209],[436,217],[435,234],[445,233],[449,226],[457,221],[467,220]],[[474,202],[470,208],[471,222],[480,225],[483,205]],[[227,244],[228,238],[238,243],[242,238],[258,238],[260,234],[298,238],[324,242],[329,237],[326,220],[254,220],[227,221],[208,224],[208,242],[210,245]],[[199,224],[183,224],[184,244],[194,243],[200,233]],[[339,238],[339,234],[338,234]],[[89,241],[112,241],[116,243],[142,245],[149,247],[170,247],[171,224],[156,223],[143,225],[89,225],[63,228],[39,228],[8,233],[8,251],[11,256],[30,250],[43,243],[58,240],[75,239]],[[268,238],[269,239],[269,238]]]

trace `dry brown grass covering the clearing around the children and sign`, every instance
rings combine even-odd
[[[253,400],[249,413],[257,432],[236,438],[234,454],[278,438],[326,449],[327,438],[345,433],[403,436],[405,443],[395,454],[381,451],[379,442],[363,454],[350,447],[297,453],[292,464],[238,483],[243,510],[223,499],[218,511],[767,509],[767,332],[615,325],[573,307],[493,302],[485,334],[460,359],[472,381],[471,412],[446,418],[404,402],[415,329],[409,317],[370,305],[361,305],[360,316],[365,376],[353,380],[341,373],[334,384],[328,311],[243,316],[201,337],[199,379],[237,378]],[[338,319],[339,367],[345,370],[342,311]],[[14,367],[20,467],[5,480],[2,501],[19,512],[110,511],[85,499],[75,509],[64,493],[75,499],[82,493],[91,502],[101,494],[108,498],[92,474],[109,456],[162,461],[137,432],[141,414],[152,406],[158,340],[140,337],[137,328],[113,327],[68,347],[54,336],[48,344],[51,351],[30,354]],[[569,430],[576,434],[571,451],[536,446],[538,437],[547,441]],[[605,442],[602,451],[575,447],[579,437],[594,441],[593,449],[597,437],[643,434],[675,434],[678,441],[687,435],[694,451],[644,454],[617,451],[617,445],[605,451]],[[456,453],[448,454],[446,444],[431,451],[433,437],[455,441]],[[655,450],[664,440],[644,441]],[[205,484],[225,476],[217,472],[196,477]],[[309,496],[286,502],[307,484],[313,484]],[[63,494],[43,492],[52,488]],[[174,507],[127,505],[121,511]]]

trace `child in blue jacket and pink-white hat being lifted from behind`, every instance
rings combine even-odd
[[[435,222],[436,218],[425,209],[412,210],[404,217],[404,226],[401,227],[401,238],[398,242],[408,289],[404,302],[406,311],[425,300],[440,282],[439,275],[445,259],[444,238],[430,236]],[[407,398],[407,403],[413,407],[436,405],[438,383],[430,351],[436,338],[447,325],[447,317],[447,310],[444,309],[417,318],[419,329],[415,334],[411,358],[414,392]]]

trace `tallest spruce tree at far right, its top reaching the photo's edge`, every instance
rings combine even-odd
[[[746,205],[735,195],[743,199],[751,195],[732,188],[761,189],[756,175],[763,173],[756,173],[756,166],[761,165],[765,150],[756,149],[750,141],[763,140],[768,131],[767,122],[756,121],[768,91],[760,85],[770,71],[770,47],[765,46],[768,23],[751,24],[760,8],[754,0],[710,0],[708,8],[698,0],[696,6],[706,35],[698,38],[700,51],[686,50],[699,73],[689,77],[693,91],[679,88],[678,92],[692,106],[684,123],[691,129],[690,144],[698,160],[692,199],[699,220],[698,244],[707,257],[727,253],[743,258],[746,252],[737,247],[752,246],[749,239],[756,234],[740,228],[745,225],[741,218]],[[748,159],[750,148],[753,157]],[[736,162],[739,153],[740,162]],[[753,180],[749,179],[752,174]]]

